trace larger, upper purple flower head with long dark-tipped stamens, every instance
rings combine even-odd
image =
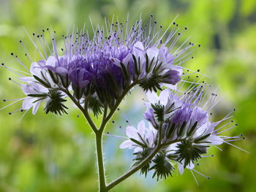
[[[184,32],[176,23],[170,24],[164,32],[153,16],[149,25],[140,19],[131,28],[128,20],[110,23],[107,19],[106,23],[104,27],[94,28],[94,37],[85,30],[63,35],[61,51],[56,46],[56,31],[42,30],[42,34],[29,36],[42,58],[32,62],[30,71],[17,55],[14,58],[28,72],[2,66],[18,74],[22,81],[36,82],[63,94],[70,92],[81,101],[91,101],[90,96],[94,96],[100,106],[109,108],[134,85],[140,85],[144,91],[157,91],[163,85],[172,87],[181,80],[181,64],[192,58],[189,54],[195,48],[194,44],[186,42],[174,48]],[[52,47],[48,45],[48,34]],[[20,43],[23,45],[22,41]],[[29,53],[25,55],[29,62],[33,61]]]

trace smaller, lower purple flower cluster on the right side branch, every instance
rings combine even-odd
[[[135,148],[135,165],[138,165],[148,157],[154,148],[159,147],[151,163],[141,169],[142,174],[154,169],[153,177],[166,178],[172,175],[173,164],[178,164],[181,174],[184,168],[192,169],[197,161],[202,158],[210,145],[222,145],[227,141],[244,139],[244,137],[222,137],[218,132],[222,126],[220,123],[230,118],[225,118],[211,123],[208,112],[214,106],[213,94],[206,102],[206,85],[194,85],[188,93],[178,96],[176,91],[165,89],[159,96],[154,92],[147,92],[146,112],[144,118],[148,121],[148,128],[145,122],[138,124],[138,129],[133,126],[127,127],[127,137],[121,143],[120,148]],[[233,121],[231,121],[233,122]],[[230,123],[227,123],[227,125]],[[237,126],[237,124],[235,125]],[[219,147],[218,147],[219,148]]]

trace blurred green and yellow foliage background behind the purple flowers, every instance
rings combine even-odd
[[[222,152],[211,149],[209,153],[214,153],[214,158],[203,158],[197,167],[211,180],[196,175],[199,187],[187,170],[184,175],[175,172],[174,177],[158,183],[135,174],[113,191],[256,191],[255,0],[0,0],[0,62],[18,66],[10,53],[23,55],[20,39],[33,53],[23,27],[29,33],[40,33],[42,28],[52,26],[61,36],[67,28],[82,28],[89,23],[89,16],[93,23],[102,23],[105,16],[111,18],[113,13],[122,20],[127,12],[132,21],[138,19],[140,12],[146,19],[153,13],[164,28],[179,15],[177,22],[188,28],[185,36],[203,45],[186,66],[201,69],[211,76],[208,81],[219,85],[223,99],[214,110],[216,119],[236,107],[234,120],[240,126],[227,134],[243,133],[246,139],[235,144],[250,154],[229,145],[223,145]],[[1,99],[23,97],[20,88],[7,80],[12,76],[1,68]],[[136,99],[129,96],[121,106],[114,118],[118,125],[126,126],[127,118],[138,123],[143,110],[140,93],[135,91]],[[5,105],[1,101],[0,108]],[[97,191],[94,137],[83,118],[77,118],[78,110],[56,117],[45,115],[41,107],[37,115],[28,112],[18,123],[20,112],[8,115],[18,107],[19,104],[0,112],[0,191]],[[108,131],[123,134],[116,129],[109,125]],[[120,143],[105,137],[109,181],[131,165],[132,151],[118,149]]]

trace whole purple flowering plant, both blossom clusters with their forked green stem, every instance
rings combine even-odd
[[[45,102],[46,114],[67,114],[67,97],[83,112],[97,136],[102,191],[114,185],[110,183],[106,186],[105,180],[102,180],[105,178],[100,154],[102,133],[118,105],[135,85],[146,92],[144,118],[148,126],[144,120],[140,121],[138,128],[128,126],[128,138],[120,145],[122,149],[134,149],[133,173],[140,169],[142,174],[147,175],[152,170],[153,177],[159,180],[172,176],[174,164],[178,164],[181,174],[185,168],[197,172],[195,164],[206,156],[210,145],[217,147],[224,142],[230,144],[231,141],[244,139],[241,135],[219,136],[234,127],[228,127],[233,121],[219,126],[230,119],[229,113],[225,118],[211,122],[209,111],[217,104],[217,95],[207,96],[208,85],[198,80],[190,82],[186,90],[182,90],[183,82],[189,82],[182,77],[189,78],[189,74],[199,72],[186,69],[185,74],[185,68],[181,66],[193,58],[190,53],[197,48],[187,40],[178,42],[187,28],[181,29],[173,22],[162,32],[162,26],[158,26],[153,19],[151,15],[149,24],[140,19],[132,26],[129,26],[128,19],[125,23],[114,22],[114,18],[112,22],[106,19],[105,26],[92,26],[93,37],[85,29],[63,35],[64,47],[60,50],[56,46],[56,31],[47,28],[42,30],[42,34],[29,36],[41,57],[39,61],[34,61],[29,53],[25,53],[30,69],[14,53],[11,55],[25,72],[1,64],[22,81],[9,79],[20,85],[26,97],[16,101],[4,99],[13,101],[12,104],[23,101],[22,108],[15,112],[32,109],[32,113],[36,114],[39,105]],[[50,35],[51,45],[48,44],[47,34]],[[23,42],[20,41],[20,44],[23,45]],[[99,128],[91,119],[89,110],[96,117],[102,115]],[[227,129],[219,131],[222,128]],[[124,177],[129,177],[127,175],[131,174],[124,174]],[[116,182],[121,182],[124,177]]]

